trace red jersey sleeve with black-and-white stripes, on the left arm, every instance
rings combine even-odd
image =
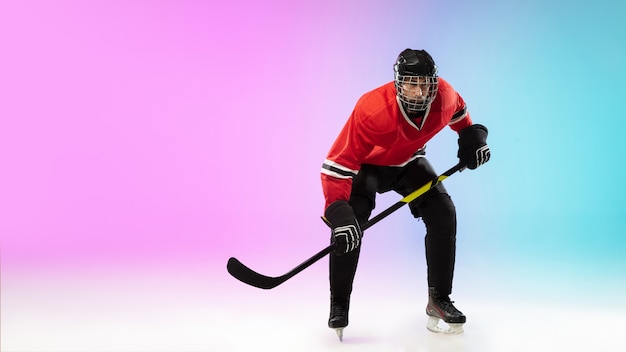
[[[335,201],[350,199],[352,179],[374,148],[374,129],[366,114],[355,108],[322,164],[324,209]]]

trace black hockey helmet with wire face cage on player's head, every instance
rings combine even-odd
[[[398,99],[408,113],[424,111],[435,100],[437,65],[426,50],[405,49],[393,65]]]

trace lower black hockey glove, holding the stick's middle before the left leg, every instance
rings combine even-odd
[[[330,240],[335,244],[335,254],[345,254],[359,247],[363,233],[348,202],[333,202],[326,208],[324,217],[332,229]]]

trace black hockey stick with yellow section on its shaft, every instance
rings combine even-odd
[[[380,214],[378,214],[378,215],[374,216],[373,218],[371,218],[368,222],[363,224],[363,226],[361,227],[361,230],[365,231],[366,229],[372,227],[374,224],[378,223],[382,219],[384,219],[387,216],[389,216],[389,214],[391,214],[394,211],[400,209],[403,205],[405,205],[407,203],[410,203],[410,202],[414,201],[415,199],[417,199],[418,197],[422,196],[427,191],[429,191],[430,189],[434,188],[439,183],[441,183],[443,180],[445,180],[446,178],[448,178],[449,176],[451,176],[455,172],[463,169],[464,167],[465,167],[465,165],[462,165],[461,163],[455,165],[450,170],[444,172],[443,174],[439,175],[437,178],[433,179],[431,182],[428,182],[427,184],[425,184],[422,187],[418,188],[417,190],[413,191],[408,196],[400,199],[397,203],[395,203],[394,205],[392,205],[389,208],[385,209]],[[271,277],[271,276],[265,276],[263,274],[259,274],[256,271],[254,271],[254,270],[248,268],[247,266],[245,266],[242,262],[240,262],[237,258],[234,258],[234,257],[231,257],[230,259],[228,259],[228,264],[226,264],[226,269],[228,270],[228,272],[235,279],[237,279],[237,280],[239,280],[239,281],[241,281],[243,283],[246,283],[248,285],[267,290],[267,289],[274,288],[274,287],[282,284],[283,282],[289,280],[290,278],[292,278],[293,276],[295,276],[296,274],[298,274],[302,270],[308,268],[313,263],[315,263],[318,260],[320,260],[323,257],[325,257],[327,254],[332,252],[334,248],[335,248],[335,245],[331,244],[330,246],[322,249],[320,252],[318,252],[317,254],[312,256],[311,258],[309,258],[306,261],[304,261],[302,264],[300,264],[297,267],[293,268],[291,271],[289,271],[285,275],[277,276],[277,277]]]

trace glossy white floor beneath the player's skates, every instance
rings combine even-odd
[[[580,303],[567,298],[538,303],[511,295],[494,300],[476,295],[480,288],[463,284],[460,291],[466,295],[453,297],[468,316],[462,335],[427,331],[425,296],[415,297],[412,288],[391,295],[388,283],[361,283],[340,343],[326,327],[327,288],[319,280],[323,275],[320,269],[312,270],[267,291],[221,274],[4,275],[0,350],[606,352],[626,348],[626,309],[620,297],[615,296],[614,302],[591,297]]]

